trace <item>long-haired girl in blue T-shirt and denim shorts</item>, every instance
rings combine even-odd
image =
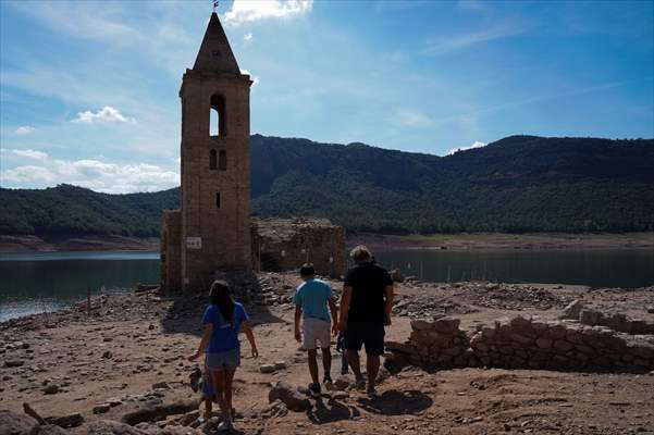
[[[206,366],[211,373],[213,387],[223,421],[219,430],[231,430],[234,415],[232,408],[232,382],[236,368],[240,365],[240,344],[238,332],[243,332],[250,343],[254,358],[259,357],[255,336],[243,306],[234,302],[230,287],[224,281],[215,281],[209,293],[211,304],[205,310],[202,318],[203,334],[198,351],[189,361],[197,360],[206,353]]]

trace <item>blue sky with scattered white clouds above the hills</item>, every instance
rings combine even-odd
[[[211,1],[0,1],[0,185],[178,185]],[[447,154],[654,136],[652,1],[223,1],[251,132]]]

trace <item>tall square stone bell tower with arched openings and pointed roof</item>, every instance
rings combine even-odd
[[[181,287],[203,290],[217,271],[251,269],[249,75],[211,14],[182,99]],[[172,284],[172,283],[171,283]]]

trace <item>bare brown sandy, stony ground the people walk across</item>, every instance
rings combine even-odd
[[[297,278],[267,276],[280,297],[269,298],[270,306],[246,304],[261,355],[249,357],[243,339],[235,433],[654,433],[652,373],[406,368],[381,384],[375,400],[350,390],[345,399],[312,400],[307,412],[271,417],[271,384],[283,380],[306,386],[309,375],[306,357],[293,339],[293,309],[284,302]],[[654,318],[645,312],[654,303],[653,288],[589,291],[579,286],[525,285],[504,288],[503,295],[509,296],[490,298],[478,289],[471,283],[400,285],[397,300],[407,302],[395,309],[387,339],[407,338],[410,315],[446,312],[461,318],[464,327],[472,327],[518,312],[555,318],[575,298]],[[149,291],[97,298],[94,303],[90,315],[79,307],[0,324],[0,360],[23,361],[21,366],[0,368],[0,409],[22,412],[22,403],[28,402],[45,417],[81,412],[86,425],[98,419],[120,420],[144,403],[197,397],[188,387],[195,364],[185,356],[198,344],[206,298],[162,298]],[[279,361],[286,363],[285,370],[259,373],[260,364]],[[338,366],[336,355],[334,377]],[[153,390],[159,382],[166,387]],[[51,384],[59,391],[45,394]],[[106,402],[113,405],[111,409],[94,414],[94,407]],[[85,433],[85,425],[71,431]]]

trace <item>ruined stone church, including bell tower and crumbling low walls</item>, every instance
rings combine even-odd
[[[305,226],[298,233],[293,220],[276,221],[277,228],[285,223],[288,231],[301,234],[284,243],[258,235],[259,226],[250,219],[251,85],[249,75],[240,72],[214,12],[180,89],[182,208],[163,212],[161,286],[165,290],[207,289],[221,271],[266,270],[268,264],[271,269],[294,269],[307,258],[303,257],[307,251],[313,252],[312,259],[320,259],[323,273],[342,273],[343,231],[338,232],[341,243],[308,235],[313,228],[333,236],[331,224]],[[323,243],[325,246],[318,246]],[[333,251],[328,252],[328,247]],[[276,260],[261,261],[261,256]]]

